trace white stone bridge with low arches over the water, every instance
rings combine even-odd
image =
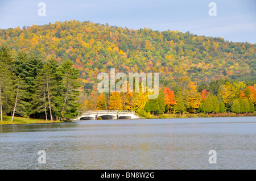
[[[96,110],[85,111],[79,120],[105,120],[105,119],[139,119],[141,117],[135,115],[135,111],[121,110]]]

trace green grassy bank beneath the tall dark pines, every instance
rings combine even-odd
[[[25,117],[14,117],[13,123],[11,123],[11,116],[3,116],[3,122],[0,121],[0,124],[32,124],[32,123],[63,123],[63,121],[51,121],[43,119],[33,119]]]

